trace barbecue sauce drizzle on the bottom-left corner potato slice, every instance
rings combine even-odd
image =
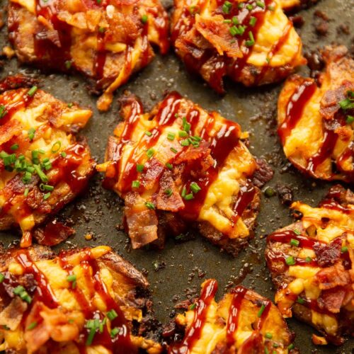
[[[58,256],[58,262],[62,269],[66,270],[68,275],[73,274],[73,265],[69,264],[67,261],[67,256],[72,254],[71,251],[62,251]],[[84,269],[86,286],[89,288],[91,294],[98,294],[107,307],[107,311],[114,309],[118,314],[115,319],[110,321],[110,328],[115,327],[120,329],[115,338],[110,337],[107,326],[103,327],[103,332],[100,333],[98,330],[93,338],[93,346],[104,346],[106,349],[110,350],[112,353],[137,353],[137,349],[132,345],[130,341],[130,328],[125,319],[124,312],[120,309],[120,306],[115,302],[115,300],[109,294],[105,283],[101,280],[99,275],[99,265],[98,261],[91,256],[90,249],[83,249],[79,253],[80,255],[80,265]],[[31,259],[30,253],[27,250],[17,251],[14,256],[18,264],[23,268],[25,274],[32,274],[35,278],[37,286],[34,290],[34,297],[32,303],[42,302],[45,306],[50,307],[50,309],[55,309],[59,307],[59,302],[55,297],[52,288],[46,278],[46,276],[38,269],[35,262]],[[92,271],[92,274],[91,274]],[[7,277],[5,282],[8,282]],[[12,286],[12,285],[11,285]],[[16,285],[15,285],[16,286]],[[84,312],[85,319],[100,319],[105,317],[105,314],[99,312],[93,307],[93,304],[89,302],[84,293],[76,286],[74,289],[71,288],[70,291],[74,294],[76,301],[80,304],[82,312]],[[30,308],[25,313],[28,316]],[[38,323],[42,321],[42,318],[38,318]],[[89,329],[84,329],[84,338],[80,338],[80,342],[76,342],[76,346],[79,347],[80,353],[86,353],[86,338],[89,335]]]

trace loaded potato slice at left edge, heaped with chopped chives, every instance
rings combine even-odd
[[[18,88],[25,84],[30,82],[21,76],[0,83],[0,229],[19,226],[21,246],[29,246],[33,229],[85,188],[95,165],[87,144],[74,136],[91,110],[36,86]]]

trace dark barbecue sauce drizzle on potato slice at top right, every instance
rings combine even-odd
[[[244,67],[246,67],[247,60],[249,59],[253,49],[253,46],[246,47],[244,42],[246,40],[249,40],[249,32],[253,33],[253,38],[256,42],[258,31],[264,23],[265,13],[266,11],[268,11],[268,6],[271,2],[271,0],[265,0],[264,8],[257,6],[256,1],[253,0],[244,1],[242,3],[244,4],[242,8],[239,8],[238,2],[234,2],[231,11],[229,11],[229,13],[224,13],[224,11],[222,11],[222,5],[224,4],[224,1],[217,0],[218,7],[215,9],[215,15],[222,15],[226,20],[231,20],[233,17],[236,16],[239,21],[239,25],[243,25],[245,27],[244,33],[242,35],[236,35],[234,37],[234,40],[238,42],[239,48],[241,49],[243,56],[241,58],[234,59],[227,57],[227,55],[220,56],[217,53],[217,50],[215,50],[215,48],[202,50],[198,47],[195,47],[195,52],[198,53],[199,57],[193,57],[193,55],[189,52],[183,55],[183,62],[185,62],[185,66],[187,67],[188,71],[192,73],[200,72],[202,66],[206,62],[210,62],[210,64],[213,66],[213,70],[210,73],[210,78],[208,79],[208,81],[210,86],[212,86],[212,88],[219,93],[224,92],[224,89],[222,88],[222,77],[224,75],[228,74],[232,77],[232,79],[234,79],[234,81],[239,81],[239,76]],[[247,5],[253,5],[253,8],[249,10],[247,8]],[[193,28],[193,26],[195,26],[195,13],[202,12],[205,6],[205,1],[199,1],[199,6],[198,8],[196,8],[195,12],[190,11],[190,8],[188,8],[188,6],[185,6],[183,8],[181,17],[178,18],[178,21],[173,27],[171,33],[172,42],[176,42],[178,37],[184,36],[186,33],[188,33],[189,30]],[[256,24],[253,26],[249,24],[251,17],[256,18]],[[291,33],[291,29],[292,23],[288,21],[287,25],[285,26],[282,32],[282,35],[280,36],[280,38],[278,38],[277,42],[275,42],[270,48],[270,51],[267,55],[268,61],[265,62],[263,67],[257,73],[252,73],[254,79],[253,84],[259,84],[265,74],[268,72],[268,69],[271,68],[271,59],[279,52],[282,45],[284,45],[284,43],[287,41]],[[188,42],[188,46],[193,47],[193,43]],[[201,51],[202,54],[200,55]]]

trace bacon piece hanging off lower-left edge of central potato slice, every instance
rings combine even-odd
[[[133,249],[139,249],[158,238],[156,212],[145,207],[137,193],[125,195],[125,221]]]

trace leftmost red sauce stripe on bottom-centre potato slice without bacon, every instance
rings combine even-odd
[[[198,302],[196,303],[194,310],[193,323],[186,331],[182,343],[169,348],[169,353],[188,354],[193,348],[193,344],[198,341],[202,333],[202,327],[205,324],[207,317],[207,311],[210,307],[212,300],[217,292],[216,280],[207,280],[206,284],[202,288],[202,293]]]

